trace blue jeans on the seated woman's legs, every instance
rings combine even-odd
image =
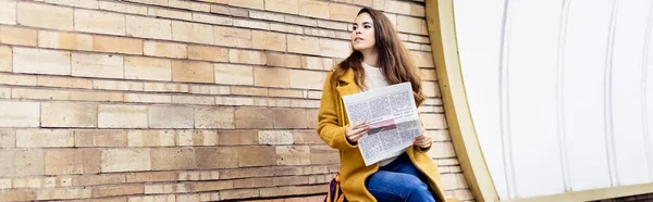
[[[435,202],[429,187],[420,179],[420,172],[406,153],[380,167],[366,181],[366,187],[379,202],[428,201]]]

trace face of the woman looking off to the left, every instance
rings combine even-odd
[[[374,48],[374,22],[369,13],[356,17],[352,27],[352,46],[355,50],[365,51]]]

